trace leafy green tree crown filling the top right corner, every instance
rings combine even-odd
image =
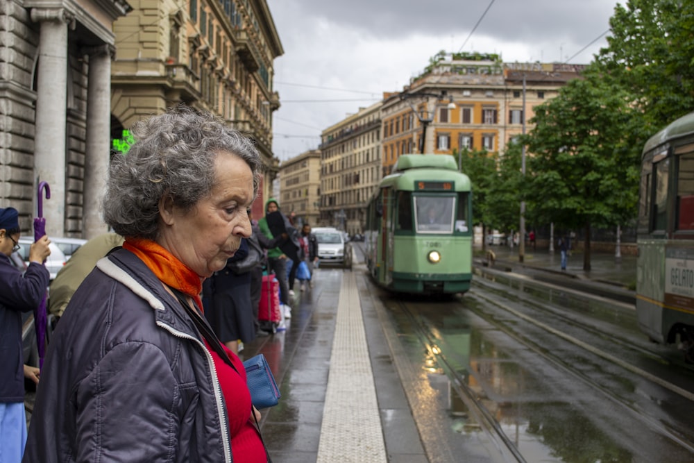
[[[634,136],[652,135],[694,108],[694,2],[629,0],[610,19],[608,47],[595,67],[632,94],[643,119]],[[639,116],[638,113],[635,116]]]

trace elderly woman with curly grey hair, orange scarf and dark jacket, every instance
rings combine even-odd
[[[253,143],[180,108],[112,160],[99,260],[53,335],[25,462],[266,462],[239,358],[210,335],[201,285],[251,235]]]

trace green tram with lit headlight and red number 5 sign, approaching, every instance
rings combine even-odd
[[[376,282],[411,294],[454,294],[472,279],[472,193],[450,155],[400,155],[369,203],[366,264]]]

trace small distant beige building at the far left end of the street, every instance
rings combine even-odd
[[[294,213],[294,225],[319,225],[321,195],[321,151],[301,153],[280,165],[280,196],[282,212]]]

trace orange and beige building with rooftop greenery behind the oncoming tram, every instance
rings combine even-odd
[[[505,151],[523,131],[523,119],[527,124],[534,116],[533,108],[557,96],[559,88],[584,69],[582,65],[503,63],[497,55],[479,53],[439,58],[403,92],[384,98],[384,174],[403,153]]]

